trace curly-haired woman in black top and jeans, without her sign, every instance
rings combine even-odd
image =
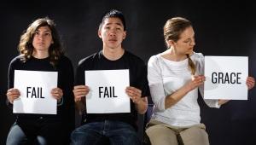
[[[10,107],[20,97],[14,88],[15,70],[57,72],[50,94],[57,100],[56,114],[17,113],[6,144],[65,144],[74,128],[73,65],[64,55],[55,23],[49,18],[32,22],[20,37],[20,55],[9,64]]]

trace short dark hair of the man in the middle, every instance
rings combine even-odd
[[[102,16],[102,22],[99,26],[99,30],[102,29],[104,20],[106,20],[107,18],[119,18],[119,20],[121,20],[123,23],[124,30],[126,31],[125,16],[121,11],[119,11],[117,9],[112,9]]]

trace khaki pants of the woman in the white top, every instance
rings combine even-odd
[[[152,145],[209,145],[203,124],[177,127],[151,119],[146,134]]]

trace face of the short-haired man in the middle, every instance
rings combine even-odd
[[[102,38],[104,48],[120,49],[126,37],[122,21],[119,18],[105,19],[98,36]]]

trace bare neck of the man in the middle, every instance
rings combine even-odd
[[[116,61],[119,58],[121,58],[122,55],[124,54],[125,54],[125,49],[122,49],[122,48],[111,49],[111,48],[103,47],[103,55],[110,61]]]

